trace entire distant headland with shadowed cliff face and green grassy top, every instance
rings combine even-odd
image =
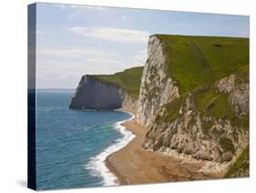
[[[114,75],[82,76],[70,108],[117,109],[136,112],[142,67]]]

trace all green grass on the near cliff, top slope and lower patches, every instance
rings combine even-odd
[[[164,44],[168,73],[179,86],[179,98],[166,105],[162,120],[174,121],[185,98],[191,95],[202,117],[228,118],[234,126],[249,128],[249,115],[235,116],[229,96],[215,82],[235,74],[236,85],[249,82],[249,39],[234,37],[158,35]],[[205,131],[211,127],[205,123]]]

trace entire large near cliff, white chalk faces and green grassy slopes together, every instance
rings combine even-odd
[[[248,39],[150,36],[137,120],[147,149],[234,162],[249,145]]]

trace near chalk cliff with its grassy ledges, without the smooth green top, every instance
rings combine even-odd
[[[217,162],[235,159],[249,143],[248,66],[181,95],[165,47],[150,36],[137,111],[138,123],[149,127],[143,147]]]

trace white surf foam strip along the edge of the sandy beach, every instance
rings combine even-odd
[[[98,154],[96,157],[92,157],[90,161],[87,163],[86,168],[91,171],[91,175],[98,176],[100,175],[103,178],[103,186],[117,186],[118,178],[109,171],[106,166],[105,160],[106,158],[118,151],[119,149],[128,145],[128,143],[135,137],[126,127],[123,127],[121,124],[132,120],[134,115],[131,118],[128,118],[123,121],[119,121],[116,123],[115,128],[121,132],[123,137],[118,138],[113,145],[107,147],[102,153]]]

